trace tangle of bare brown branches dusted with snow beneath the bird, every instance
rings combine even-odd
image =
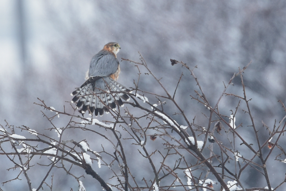
[[[194,90],[195,95],[190,92],[188,99],[194,101],[193,104],[207,108],[203,115],[208,123],[204,127],[196,122],[195,117],[190,118],[184,111],[184,105],[176,100],[183,75],[171,94],[148,68],[141,54],[139,62],[122,60],[135,64],[138,80],[134,81],[133,93],[129,93],[132,100],[125,102],[125,107],[110,110],[106,120],[82,117],[75,113],[74,108],[74,113],[67,112],[66,106],[63,111],[56,110],[39,99],[35,104],[43,109],[41,112],[50,122],[50,127],[35,131],[35,128],[26,126],[13,127],[8,122],[1,125],[1,158],[9,159],[8,171],[13,169],[16,172],[19,169],[15,178],[3,180],[2,177],[3,185],[21,180],[22,176],[30,191],[44,187],[58,190],[53,182],[59,176],[74,178],[80,191],[86,190],[84,185],[125,191],[277,190],[283,185],[285,178],[281,179],[280,184],[271,183],[267,163],[269,160],[285,162],[286,153],[284,147],[279,145],[279,139],[285,132],[286,115],[273,127],[263,123],[260,128],[267,129],[269,135],[267,139],[260,136],[257,128],[260,124],[255,124],[243,82],[243,72],[251,62],[239,68],[212,106],[194,70],[184,62],[171,59],[173,67],[181,65],[189,74],[188,77],[196,81],[198,90]],[[146,70],[146,73],[141,70]],[[161,88],[164,93],[141,90],[139,82],[144,78],[142,74],[152,76],[156,82],[154,86]],[[228,92],[235,77],[241,79],[243,96]],[[220,103],[224,96],[226,99],[238,98],[237,107],[229,115],[221,113]],[[286,111],[284,104],[279,102]],[[178,112],[171,113],[166,109],[167,105]],[[243,123],[237,125],[235,120],[238,113],[244,113],[249,119],[248,127]],[[175,121],[172,115],[180,116],[180,122]],[[61,123],[66,121],[64,127],[59,125],[59,120]],[[251,143],[242,133],[243,128],[248,128],[248,133],[253,137]],[[81,139],[84,136],[86,138]],[[265,150],[266,147],[269,149]],[[280,153],[274,153],[274,149]],[[272,155],[275,155],[275,159]],[[261,173],[265,185],[247,188],[244,176],[249,169]],[[39,171],[45,172],[44,175]],[[38,173],[38,179],[31,179],[30,172]],[[92,179],[88,179],[86,174],[91,175]]]

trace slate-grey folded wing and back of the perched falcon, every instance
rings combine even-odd
[[[110,76],[118,68],[119,62],[114,54],[96,54],[90,61],[89,77]]]

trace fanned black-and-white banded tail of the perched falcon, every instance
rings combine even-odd
[[[124,92],[130,92],[118,82],[110,77],[102,77],[100,79],[87,80],[80,88],[71,93],[74,98],[72,103],[77,102],[76,109],[82,106],[80,113],[86,111],[90,115],[103,115],[104,111],[116,109],[116,105],[123,107],[122,99],[129,101],[129,96]]]

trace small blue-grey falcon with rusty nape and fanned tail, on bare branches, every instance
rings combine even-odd
[[[94,55],[86,72],[86,81],[71,93],[76,103],[76,109],[84,116],[86,111],[95,116],[109,113],[110,109],[116,110],[117,105],[123,107],[123,100],[129,101],[127,93],[131,91],[116,82],[119,77],[120,67],[116,54],[120,50],[116,42],[109,42],[103,49]]]

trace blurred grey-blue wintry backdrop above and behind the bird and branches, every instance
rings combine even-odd
[[[120,44],[120,61],[139,61],[139,51],[170,93],[183,72],[176,99],[190,121],[207,110],[190,100],[196,83],[181,66],[171,66],[170,58],[198,67],[194,73],[212,106],[224,89],[223,82],[227,84],[239,67],[252,60],[243,77],[262,140],[269,135],[261,121],[273,127],[274,120],[285,115],[277,101],[286,102],[286,1],[1,0],[0,17],[2,125],[7,120],[36,131],[51,128],[42,118],[41,108],[33,104],[39,102],[37,98],[55,109],[63,111],[65,105],[66,111],[73,112],[67,103],[72,99],[70,93],[84,82],[90,59],[108,42]],[[137,68],[126,61],[120,62],[120,67],[118,81],[134,87]],[[233,83],[228,92],[242,96],[240,78]],[[139,88],[163,94],[154,84],[150,76],[144,76]],[[230,115],[237,104],[238,99],[223,98],[220,112]],[[170,115],[176,112],[168,103],[165,107]],[[244,115],[239,110],[237,124],[250,128]],[[186,125],[179,117],[174,119]],[[207,122],[203,115],[196,118],[198,125],[206,126]],[[67,121],[56,123],[64,127]],[[253,140],[247,130],[241,133]],[[279,144],[285,145],[285,141]],[[269,166],[271,181],[279,184],[284,178],[275,182],[275,174],[284,175],[285,164]],[[7,173],[1,168],[1,173]],[[243,181],[249,187],[266,186],[257,171],[250,170]],[[19,188],[21,184],[26,183],[19,182]],[[13,186],[7,188],[13,190]]]

